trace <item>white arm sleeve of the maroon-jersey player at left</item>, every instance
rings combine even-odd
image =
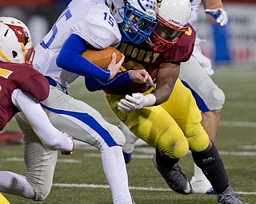
[[[60,151],[71,151],[73,149],[72,140],[54,128],[40,104],[26,96],[19,89],[12,92],[11,100],[15,107],[26,116],[26,120],[28,120],[31,128],[45,147]]]

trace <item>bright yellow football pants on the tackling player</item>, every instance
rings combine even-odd
[[[200,123],[201,113],[190,90],[179,79],[169,100],[158,106],[121,112],[118,101],[123,97],[106,94],[115,115],[151,147],[158,147],[174,159],[182,158],[189,149],[204,151],[208,147],[210,140]]]

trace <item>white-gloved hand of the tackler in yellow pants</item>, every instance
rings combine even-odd
[[[140,109],[144,104],[144,96],[142,93],[133,93],[132,96],[126,95],[126,99],[118,102],[118,110],[122,112],[132,112],[136,109]]]

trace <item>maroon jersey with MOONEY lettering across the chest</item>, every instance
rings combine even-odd
[[[195,31],[189,25],[189,30],[175,43],[170,49],[162,53],[157,53],[150,49],[146,41],[142,44],[135,45],[131,42],[124,43],[118,46],[118,49],[123,53],[126,58],[122,64],[126,70],[129,69],[146,69],[156,81],[158,67],[162,63],[180,64],[181,62],[188,61],[194,49]],[[104,90],[106,93],[116,95],[126,95],[134,92],[146,92],[150,89],[148,84],[137,84],[131,82],[125,86]]]

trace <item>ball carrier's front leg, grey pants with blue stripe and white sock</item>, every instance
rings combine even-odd
[[[130,203],[122,131],[88,104],[66,95],[60,87],[50,86],[50,96],[42,102],[42,108],[56,128],[99,149],[114,203]]]

